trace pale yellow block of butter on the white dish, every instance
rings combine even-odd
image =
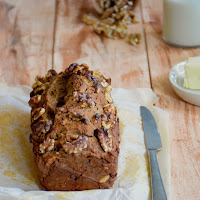
[[[194,90],[200,89],[200,57],[191,57],[187,60],[184,87]]]

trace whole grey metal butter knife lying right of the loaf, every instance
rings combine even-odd
[[[153,115],[146,107],[141,106],[140,111],[145,135],[145,143],[148,149],[150,161],[152,199],[167,200],[156,156],[156,151],[162,148],[162,142],[157,124]]]

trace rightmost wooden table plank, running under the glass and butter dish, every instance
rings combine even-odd
[[[200,199],[200,107],[181,100],[169,82],[171,67],[200,48],[182,49],[164,43],[162,1],[142,0],[144,29],[153,91],[160,97],[156,106],[170,114],[171,175],[173,199]]]

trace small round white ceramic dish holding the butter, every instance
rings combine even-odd
[[[200,106],[200,90],[191,90],[183,87],[187,61],[180,62],[172,67],[169,72],[169,80],[176,94],[184,101],[196,106]]]

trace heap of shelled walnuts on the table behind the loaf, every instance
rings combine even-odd
[[[97,34],[104,34],[113,39],[125,38],[128,32],[127,25],[138,23],[132,11],[136,0],[97,0],[97,2],[103,10],[101,17],[98,19],[95,16],[83,16],[83,22],[92,25]],[[138,43],[140,41],[138,40]]]

